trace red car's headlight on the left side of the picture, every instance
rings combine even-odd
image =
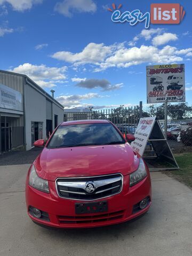
[[[38,177],[34,165],[29,174],[29,185],[45,193],[49,193],[48,181]]]

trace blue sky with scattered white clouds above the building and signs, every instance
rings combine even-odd
[[[111,21],[151,3],[180,3],[180,25],[135,26]],[[186,101],[192,104],[192,2],[0,0],[0,69],[28,75],[66,108],[146,103],[146,65],[185,63]]]

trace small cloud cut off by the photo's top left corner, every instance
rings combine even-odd
[[[31,9],[34,4],[41,4],[43,0],[0,0],[0,5],[8,3],[15,11]]]

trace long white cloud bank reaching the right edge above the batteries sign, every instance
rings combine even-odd
[[[164,33],[163,35],[171,34]],[[162,36],[163,36],[162,35]],[[175,38],[177,35],[171,34]],[[159,36],[157,36],[159,37]],[[157,38],[155,37],[155,38]],[[166,37],[166,36],[165,36]],[[167,39],[167,38],[166,38]],[[163,38],[162,40],[165,41]],[[162,43],[161,38],[159,42]],[[170,40],[170,38],[169,38]],[[106,46],[105,44],[90,43],[83,51],[56,52],[53,58],[63,60],[73,64],[74,70],[77,66],[90,64],[93,71],[99,72],[110,67],[127,68],[141,63],[174,63],[183,61],[183,56],[191,57],[192,48],[178,49],[177,47],[166,45],[159,49],[156,45],[141,45],[140,47],[126,47],[126,43],[115,43]]]

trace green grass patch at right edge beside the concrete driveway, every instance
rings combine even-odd
[[[192,189],[192,153],[175,154],[174,157],[180,170],[166,171],[165,174],[185,183]]]

